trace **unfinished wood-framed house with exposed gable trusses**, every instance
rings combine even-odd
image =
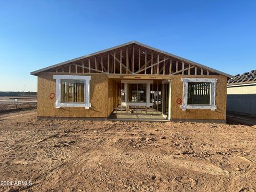
[[[113,111],[139,111],[153,119],[161,114],[216,122],[226,121],[227,77],[232,77],[135,41],[31,75],[38,76],[41,119],[108,119]]]

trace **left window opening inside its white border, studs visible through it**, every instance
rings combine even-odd
[[[84,80],[61,80],[61,102],[84,102]]]

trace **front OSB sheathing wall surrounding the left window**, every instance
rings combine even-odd
[[[55,108],[55,79],[53,75],[58,73],[38,74],[38,117],[107,117],[108,116],[108,77],[104,74],[91,74],[90,81],[90,109],[84,107],[60,107]],[[61,75],[65,75],[62,74]],[[66,74],[78,75],[78,74]],[[84,74],[81,74],[84,75]],[[87,74],[86,74],[87,75]]]

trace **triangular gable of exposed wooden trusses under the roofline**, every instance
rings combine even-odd
[[[194,68],[194,69],[193,69]],[[199,68],[199,69],[198,69]],[[191,70],[193,69],[193,70]],[[51,69],[57,73],[217,75],[214,70],[149,47],[130,44]]]

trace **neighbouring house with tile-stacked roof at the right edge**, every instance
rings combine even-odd
[[[256,70],[229,79],[227,111],[256,116]]]

